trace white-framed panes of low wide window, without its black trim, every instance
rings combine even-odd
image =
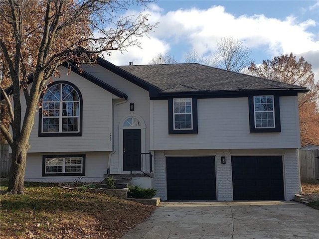
[[[46,157],[45,174],[82,173],[83,157]]]

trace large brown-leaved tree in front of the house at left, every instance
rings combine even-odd
[[[0,64],[3,81],[11,81],[13,104],[1,87],[8,119],[1,134],[12,149],[7,193],[23,194],[29,136],[41,93],[65,61],[94,62],[100,52],[139,45],[138,37],[156,24],[148,15],[121,16],[132,4],[153,0],[1,0]],[[32,74],[31,74],[32,73]],[[31,75],[30,75],[31,74]],[[29,81],[32,85],[28,87]],[[21,112],[25,98],[26,111]],[[1,109],[2,110],[2,109]],[[4,121],[3,121],[4,120]],[[11,131],[6,127],[10,126]]]

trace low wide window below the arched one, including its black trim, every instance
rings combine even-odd
[[[83,176],[85,155],[44,155],[42,176]]]

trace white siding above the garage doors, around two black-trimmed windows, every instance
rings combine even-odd
[[[298,148],[297,97],[280,97],[281,132],[250,133],[248,98],[198,99],[198,134],[168,134],[167,100],[153,101],[152,149]]]

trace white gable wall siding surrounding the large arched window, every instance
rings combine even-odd
[[[82,136],[38,137],[36,114],[28,152],[112,151],[112,94],[74,72],[67,76],[66,71],[60,67],[61,77],[53,80],[68,81],[79,88],[83,97]]]

